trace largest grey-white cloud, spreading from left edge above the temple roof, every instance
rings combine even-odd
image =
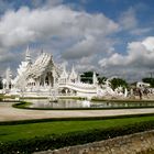
[[[56,45],[56,55],[66,59],[111,51],[113,41],[108,37],[119,30],[118,23],[102,13],[76,11],[62,4],[62,0],[48,2],[52,4],[33,9],[21,7],[1,15],[0,46],[6,51],[4,54],[0,51],[1,59],[6,59],[8,53],[14,55],[15,48],[25,48],[28,44],[45,45],[51,51]],[[8,58],[14,63],[13,58]]]

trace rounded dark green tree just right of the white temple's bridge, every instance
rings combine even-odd
[[[128,87],[128,82],[124,79],[121,78],[113,78],[111,79],[111,88],[114,90],[118,87]]]

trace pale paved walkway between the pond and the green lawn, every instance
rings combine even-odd
[[[12,108],[12,102],[0,102],[0,121],[45,119],[45,118],[75,118],[75,117],[109,117],[124,114],[154,113],[148,109],[117,109],[117,110],[24,110]]]

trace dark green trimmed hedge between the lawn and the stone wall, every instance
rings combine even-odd
[[[121,128],[99,129],[80,131],[64,134],[51,134],[45,136],[36,136],[34,139],[19,140],[15,142],[1,142],[1,154],[30,154],[36,151],[55,150],[64,146],[85,144],[95,141],[107,140],[110,138],[128,135],[136,132],[143,132],[154,129],[154,121],[135,123]]]

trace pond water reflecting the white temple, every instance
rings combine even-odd
[[[69,108],[143,108],[154,107],[154,102],[92,102],[88,100],[59,99],[57,102],[50,102],[48,99],[31,99],[31,108],[53,108],[53,109],[69,109]]]

